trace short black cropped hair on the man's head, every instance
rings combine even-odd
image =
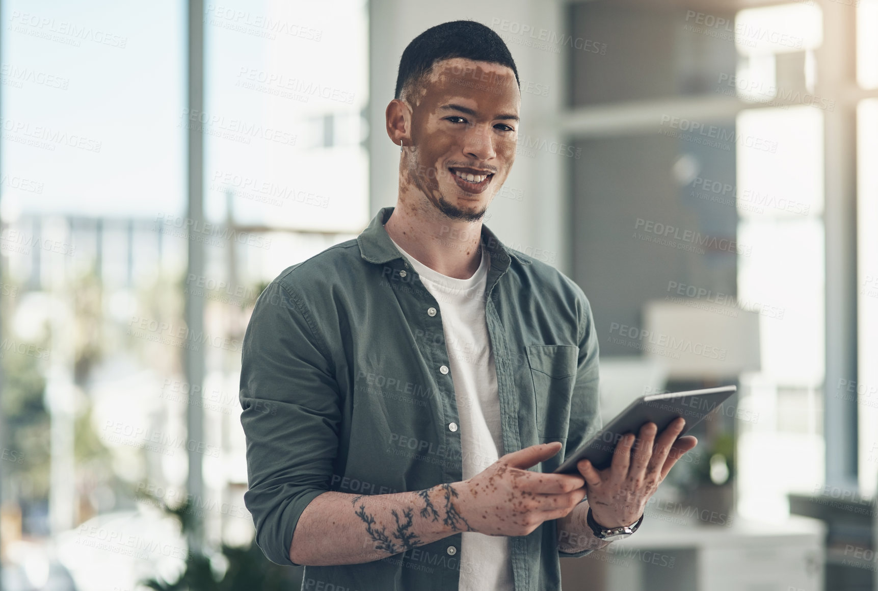
[[[522,89],[515,61],[500,35],[474,20],[452,20],[428,28],[408,44],[399,59],[393,97],[400,98],[403,88],[419,83],[436,61],[456,57],[507,66],[515,73],[519,90]]]

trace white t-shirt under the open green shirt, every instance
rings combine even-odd
[[[468,279],[430,269],[393,241],[421,276],[439,304],[451,380],[460,416],[464,480],[492,465],[502,455],[500,397],[491,339],[485,320],[485,287],[491,257],[482,249],[479,269]],[[460,591],[514,589],[509,538],[464,531],[460,551]]]

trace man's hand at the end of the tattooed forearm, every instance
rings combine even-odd
[[[527,536],[544,521],[570,513],[585,497],[585,479],[527,470],[560,450],[560,442],[531,445],[507,453],[471,479],[456,483],[457,512],[471,531]]]

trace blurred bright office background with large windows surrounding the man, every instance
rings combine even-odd
[[[878,0],[3,0],[4,591],[299,587],[243,331],[395,205],[399,56],[457,18],[522,80],[485,223],[591,300],[605,420],[738,385],[565,589],[878,589]]]

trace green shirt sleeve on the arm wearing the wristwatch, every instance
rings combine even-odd
[[[576,371],[576,385],[570,407],[570,436],[565,445],[565,459],[578,450],[583,443],[591,439],[603,426],[601,420],[601,398],[598,392],[600,375],[598,369],[598,335],[594,328],[592,308],[586,294],[580,292],[581,306],[579,309],[579,365]],[[562,558],[579,558],[593,552],[558,551]]]

